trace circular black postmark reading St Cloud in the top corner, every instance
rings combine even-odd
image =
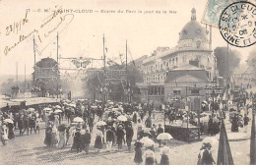
[[[248,47],[256,42],[256,6],[251,2],[228,5],[220,18],[219,28],[224,40],[236,47]]]

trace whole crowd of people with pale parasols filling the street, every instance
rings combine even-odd
[[[220,104],[218,104],[220,106]],[[247,132],[250,121],[248,114],[250,106],[244,105],[229,113],[231,131],[238,132],[238,128],[243,127]],[[208,135],[219,134],[222,113],[191,112],[186,116],[185,111],[177,111],[173,107],[166,106],[161,109],[164,120],[167,118],[169,124],[175,120],[188,122],[191,125],[200,126],[201,133],[205,130],[207,123]],[[1,129],[0,136],[3,145],[7,140],[15,139],[14,131],[19,130],[20,136],[37,134],[40,132],[40,124],[45,124],[44,144],[48,147],[58,147],[59,149],[70,147],[76,152],[89,154],[92,148],[99,152],[106,148],[111,152],[113,148],[122,151],[128,148],[132,152],[134,146],[134,162],[136,164],[162,164],[168,165],[169,147],[167,140],[159,140],[158,137],[163,133],[161,125],[154,123],[156,110],[152,105],[136,103],[92,102],[88,100],[64,101],[58,105],[47,105],[38,112],[32,108],[5,111],[0,114]],[[201,123],[198,124],[198,117]],[[207,118],[207,121],[205,120]],[[186,121],[188,119],[188,121]],[[204,119],[204,120],[203,120]],[[200,121],[200,120],[199,120]],[[134,130],[135,129],[135,130]],[[145,138],[159,143],[160,160],[156,159],[155,145],[146,145],[141,141]],[[132,141],[135,140],[134,144]],[[93,144],[94,145],[93,145]],[[124,145],[127,147],[124,147]],[[215,161],[211,154],[210,143],[203,143],[199,153],[199,164],[214,164]],[[144,152],[143,152],[144,151]],[[145,159],[143,159],[145,158]]]

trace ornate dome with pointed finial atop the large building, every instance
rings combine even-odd
[[[206,28],[203,28],[201,24],[196,21],[196,10],[193,8],[191,11],[191,21],[179,32],[179,40],[195,39],[195,37],[207,39],[207,34]]]

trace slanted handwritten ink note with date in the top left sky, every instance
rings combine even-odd
[[[52,37],[52,34],[56,34],[57,32],[61,32],[63,29],[67,28],[73,19],[73,14],[63,14],[60,7],[54,10],[51,15],[44,18],[39,25],[35,25],[35,21],[30,19],[30,12],[27,10],[25,17],[14,21],[13,24],[9,26],[6,26],[4,38],[8,38],[10,34],[13,34],[14,36],[8,38],[12,43],[4,45],[5,47],[3,52],[7,56],[10,52],[15,50],[18,45],[21,45],[21,43],[33,35],[36,38],[36,41],[39,41],[37,45],[40,45],[41,49],[37,49],[37,51],[41,54],[48,46],[49,42],[55,38],[55,35]],[[28,33],[24,32],[24,30],[28,31],[28,29],[25,29],[25,25],[30,26]]]

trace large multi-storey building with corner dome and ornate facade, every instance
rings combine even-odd
[[[197,22],[193,8],[191,21],[179,32],[177,45],[159,47],[142,62],[144,83],[137,84],[141,100],[158,106],[177,96],[203,96],[206,92],[202,88],[218,74],[215,65],[208,32]]]

